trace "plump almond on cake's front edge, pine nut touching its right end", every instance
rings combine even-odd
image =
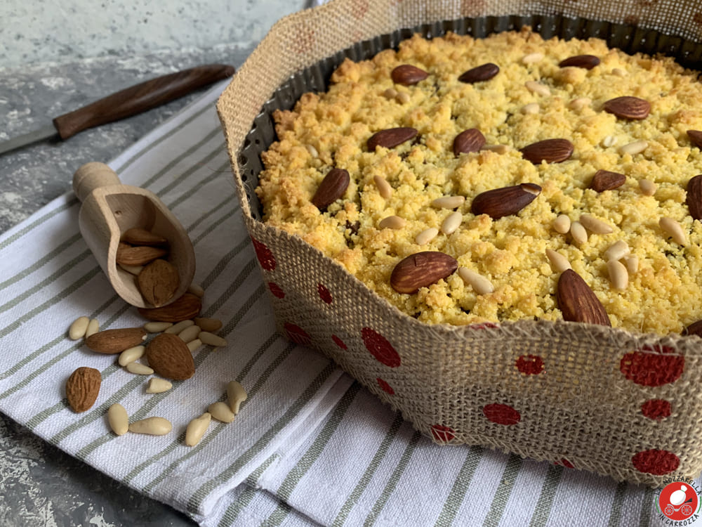
[[[438,251],[410,254],[397,263],[390,275],[390,286],[398,293],[413,294],[429,287],[458,268],[458,261]]]

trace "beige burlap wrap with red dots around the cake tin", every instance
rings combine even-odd
[[[437,443],[486,445],[651,486],[698,476],[698,339],[543,321],[418,323],[317,249],[256,219],[251,165],[260,161],[242,152],[252,126],[265,119],[270,127],[260,113],[292,74],[399,28],[487,15],[584,17],[628,25],[628,41],[642,28],[677,35],[666,51],[694,58],[701,13],[701,1],[334,0],[278,22],[223,93],[218,112],[279,330],[333,358]],[[644,403],[669,403],[671,415],[645,417]]]

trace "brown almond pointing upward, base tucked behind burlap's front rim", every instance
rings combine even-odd
[[[572,269],[561,273],[556,291],[563,320],[611,326],[609,315],[592,289]]]

